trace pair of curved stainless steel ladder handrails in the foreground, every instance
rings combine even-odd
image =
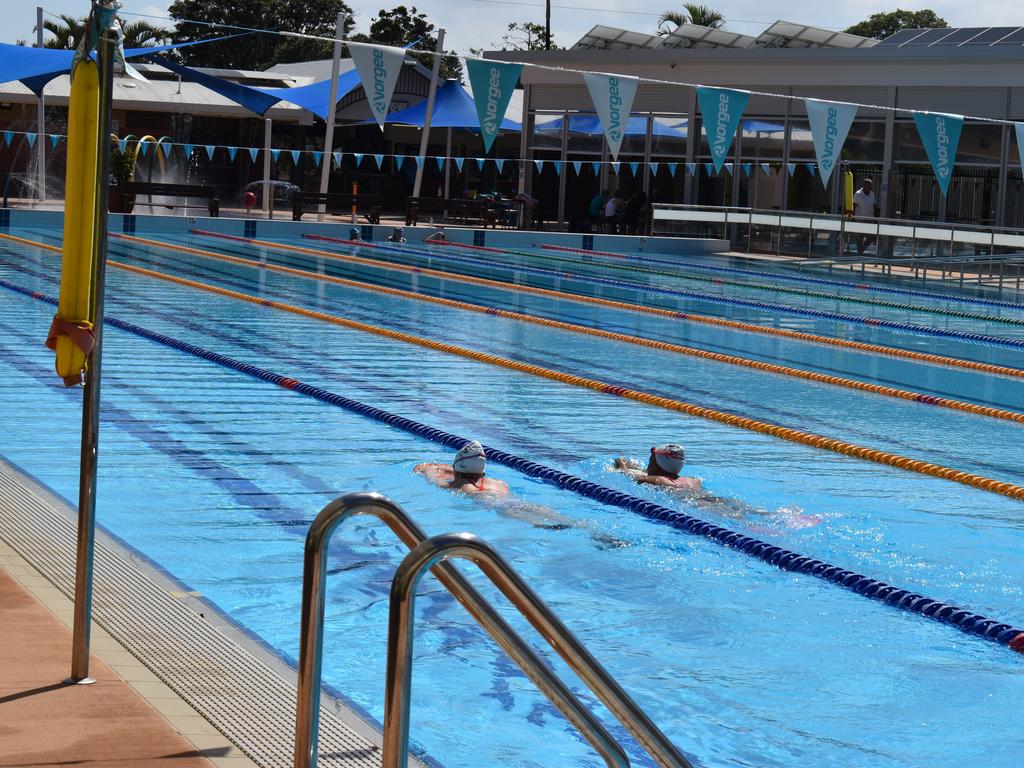
[[[559,709],[604,759],[606,765],[630,764],[625,751],[608,734],[601,722],[584,707],[547,664],[498,614],[494,606],[466,581],[465,577],[453,564],[444,562],[449,557],[469,557],[509,597],[516,608],[538,629],[659,765],[666,768],[690,768],[690,764],[679,750],[497,552],[481,540],[468,534],[447,534],[428,540],[424,531],[398,505],[380,494],[373,493],[348,494],[331,502],[313,520],[306,536],[302,579],[295,768],[315,768],[317,758],[327,545],[335,528],[343,520],[356,515],[378,517],[412,550],[399,565],[391,587],[384,716],[384,766],[406,768],[408,763],[408,692],[412,676],[412,669],[408,663],[411,662],[412,653],[412,610],[416,584],[427,569],[437,577],[445,589]],[[402,577],[400,580],[399,574]],[[395,595],[403,599],[395,601]],[[399,640],[402,636],[406,638],[404,642]],[[397,663],[399,650],[406,654],[407,664],[398,665],[399,669],[392,669],[392,663]],[[398,706],[397,710],[395,703]]]

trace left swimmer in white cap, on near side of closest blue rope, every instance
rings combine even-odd
[[[505,482],[485,476],[486,467],[487,459],[483,446],[473,440],[459,450],[451,464],[418,464],[413,471],[442,488],[471,494],[505,517],[522,520],[549,530],[584,528],[602,546],[615,548],[629,546],[628,542],[595,530],[589,521],[577,520],[543,505],[531,504],[510,496],[509,486]]]

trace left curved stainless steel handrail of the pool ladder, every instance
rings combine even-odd
[[[306,535],[302,565],[302,620],[299,638],[298,700],[295,711],[295,768],[315,768],[319,727],[321,670],[324,657],[324,603],[327,545],[344,520],[373,515],[391,528],[410,549],[426,534],[390,499],[380,494],[348,494],[321,510]],[[622,746],[601,722],[572,694],[554,672],[502,618],[486,599],[453,565],[442,563],[434,575],[477,623],[516,662],[609,766],[628,766]],[[403,762],[402,768],[406,763]]]

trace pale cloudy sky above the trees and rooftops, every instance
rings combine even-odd
[[[722,12],[726,28],[733,32],[757,35],[772,22],[782,18],[813,27],[841,30],[867,18],[871,13],[889,11],[897,7],[919,10],[931,8],[945,18],[951,27],[1024,27],[1024,3],[1013,0],[698,0]],[[380,8],[390,8],[404,3],[415,5],[427,14],[437,27],[446,30],[445,47],[467,53],[470,47],[493,48],[501,46],[502,35],[511,22],[544,23],[543,0],[348,0],[355,10],[356,27],[367,31],[370,19]],[[8,4],[9,3],[9,4]],[[167,15],[166,2],[132,2],[124,0],[122,13],[128,20],[138,16],[129,13]],[[88,0],[48,0],[43,8],[51,14],[84,15]],[[681,3],[665,0],[552,0],[551,28],[555,43],[568,46],[579,40],[596,24],[618,27],[637,32],[653,32],[658,15],[666,10],[678,10]],[[583,12],[581,12],[583,11]],[[0,32],[0,42],[33,40],[36,26],[36,6],[20,2],[4,3],[7,23]],[[148,18],[160,24],[159,18]]]

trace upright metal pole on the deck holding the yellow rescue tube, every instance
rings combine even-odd
[[[93,6],[94,8],[97,6]],[[99,66],[98,168],[93,214],[92,308],[95,345],[86,357],[82,406],[82,453],[78,495],[78,555],[75,569],[75,624],[71,677],[65,682],[87,685],[89,633],[92,621],[92,566],[96,534],[96,465],[99,454],[99,374],[103,340],[103,283],[106,272],[106,191],[111,174],[111,93],[114,90],[114,56],[118,46],[117,20],[102,29],[97,46]],[[88,33],[86,33],[88,34]]]

